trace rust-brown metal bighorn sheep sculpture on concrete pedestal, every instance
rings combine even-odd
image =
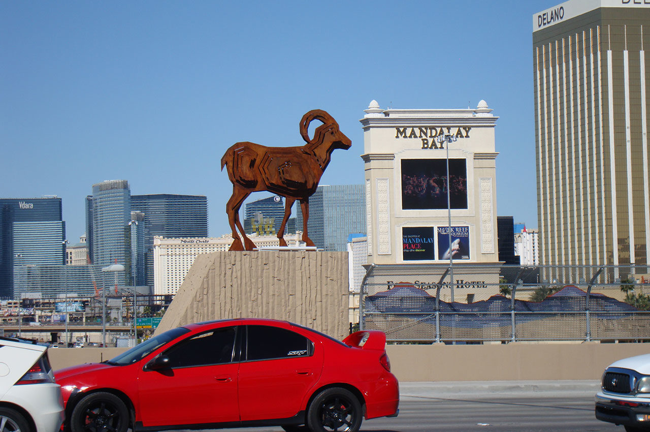
[[[309,139],[308,129],[312,120],[320,120],[323,124],[316,128],[313,139]],[[335,148],[347,150],[352,141],[339,130],[336,120],[322,109],[313,109],[302,116],[300,135],[307,142],[302,147],[266,147],[254,142],[237,142],[221,158],[221,169],[227,167],[228,178],[233,183],[233,195],[226,204],[228,223],[233,230],[233,243],[229,250],[255,248],[239,221],[239,208],[246,196],[257,191],[269,191],[286,199],[285,214],[278,232],[280,246],[287,246],[283,239],[285,225],[296,200],[300,200],[302,209],[302,241],[307,246],[314,246],[307,237],[309,196],[315,193],[320,177],[330,163],[331,152]],[[243,244],[237,228],[244,237]]]

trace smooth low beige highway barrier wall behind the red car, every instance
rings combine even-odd
[[[109,360],[125,348],[50,349],[57,370]],[[600,379],[619,358],[650,353],[650,344],[387,345],[393,373],[409,381]]]

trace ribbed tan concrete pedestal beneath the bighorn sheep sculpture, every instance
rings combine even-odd
[[[349,332],[347,252],[199,255],[156,334],[239,317],[285,319],[344,338]]]

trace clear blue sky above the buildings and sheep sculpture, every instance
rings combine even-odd
[[[325,109],[352,148],[320,184],[363,183],[371,100],[483,99],[499,116],[497,213],[534,228],[532,15],[558,3],[1,1],[0,197],[60,196],[75,243],[91,185],[125,179],[133,195],[206,195],[219,236],[235,142],[302,145],[300,118]]]

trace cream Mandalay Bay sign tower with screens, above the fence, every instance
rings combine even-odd
[[[485,101],[475,109],[370,103],[360,120],[369,263],[498,262],[491,111]]]

